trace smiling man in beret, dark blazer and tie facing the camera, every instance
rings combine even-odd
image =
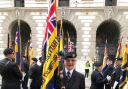
[[[64,58],[64,68],[61,80],[56,89],[85,89],[85,77],[75,70],[76,54],[67,54]]]

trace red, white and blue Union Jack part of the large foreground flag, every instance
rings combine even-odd
[[[48,8],[48,16],[46,19],[46,31],[45,31],[45,36],[43,40],[43,45],[42,45],[42,56],[45,58],[46,57],[46,50],[47,50],[47,40],[50,37],[51,33],[54,31],[56,28],[56,3],[55,0],[49,0],[49,8]]]

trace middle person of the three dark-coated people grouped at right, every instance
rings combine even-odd
[[[115,71],[115,69],[114,69],[114,66],[112,64],[112,60],[109,59],[109,58],[107,58],[106,66],[102,70],[102,73],[103,73],[104,78],[106,78],[107,75],[109,75],[109,76],[112,77],[114,71]],[[111,82],[112,81],[108,81],[107,83],[105,83],[105,89],[111,89],[111,87],[112,87]]]

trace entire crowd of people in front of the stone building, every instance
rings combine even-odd
[[[15,62],[13,49],[6,48],[3,54],[5,58],[0,60],[1,89],[41,89],[42,57],[39,58],[41,65],[37,64],[37,58],[32,58],[32,63],[29,65],[24,56],[24,71],[21,71]],[[76,56],[74,53],[68,53],[62,58],[62,54],[58,53],[60,65],[55,89],[85,89],[85,83],[88,82],[85,78],[89,76],[90,63],[89,61],[85,63],[84,75],[75,69]],[[119,89],[122,58],[117,58],[114,63],[108,57],[104,57],[103,60],[104,63],[94,62],[95,69],[91,74],[90,89]]]

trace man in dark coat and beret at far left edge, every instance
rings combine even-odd
[[[14,62],[15,52],[11,48],[6,48],[3,54],[6,58],[0,60],[1,89],[20,89],[22,73]]]

